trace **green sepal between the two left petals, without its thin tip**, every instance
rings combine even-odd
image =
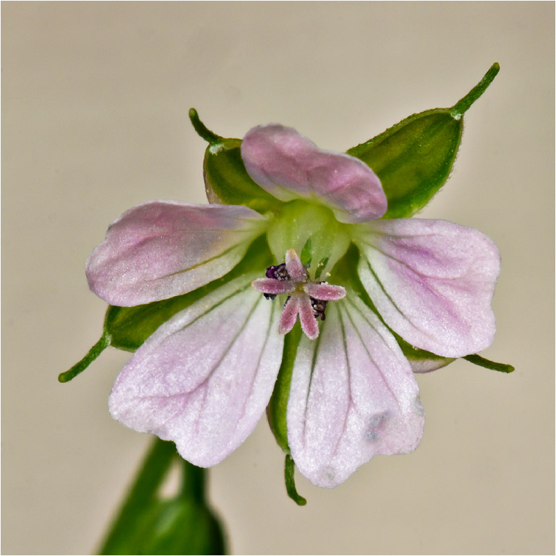
[[[228,274],[184,295],[134,307],[109,306],[104,319],[104,332],[109,334],[113,347],[134,351],[166,320],[186,309],[228,281],[271,264],[272,257],[265,236],[257,238],[247,250],[244,259]]]

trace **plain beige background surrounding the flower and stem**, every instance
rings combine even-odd
[[[100,336],[84,262],[153,198],[204,202],[186,114],[243,136],[282,122],[344,150],[450,106],[498,61],[466,116],[452,178],[422,213],[502,252],[502,375],[458,361],[418,377],[420,448],[333,491],[297,478],[266,422],[210,473],[233,553],[553,553],[554,4],[3,3],[2,550],[90,553],[150,439],[106,400],[129,354],[56,376]]]

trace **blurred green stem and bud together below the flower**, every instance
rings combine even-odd
[[[159,490],[179,461],[182,488],[172,498]],[[205,470],[182,460],[159,439],[145,459],[100,554],[223,554],[221,525],[205,500]]]

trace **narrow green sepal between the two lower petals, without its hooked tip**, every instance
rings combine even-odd
[[[267,406],[267,418],[270,428],[274,433],[276,442],[286,454],[289,454],[286,423],[287,400],[289,399],[289,386],[292,384],[294,361],[300,340],[301,326],[299,322],[296,322],[292,331],[288,332],[284,338],[282,363],[280,364],[278,378],[274,384],[274,390]]]

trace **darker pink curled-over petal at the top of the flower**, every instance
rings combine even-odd
[[[241,157],[253,181],[281,201],[315,199],[347,223],[386,212],[386,195],[370,167],[354,156],[319,149],[291,127],[254,127],[241,143]]]

